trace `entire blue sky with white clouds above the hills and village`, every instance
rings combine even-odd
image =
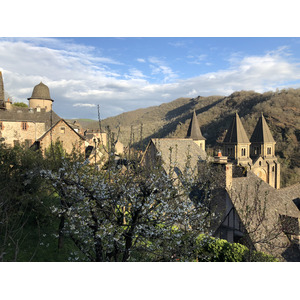
[[[300,87],[300,38],[0,38],[7,93],[40,81],[63,118],[103,118],[179,97]]]

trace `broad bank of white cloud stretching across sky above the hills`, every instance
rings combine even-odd
[[[204,56],[198,59],[205,62]],[[0,70],[8,94],[15,101],[26,101],[33,87],[43,81],[54,99],[54,110],[63,118],[97,119],[98,104],[105,118],[179,97],[263,92],[286,88],[288,82],[295,87],[300,80],[300,65],[286,47],[255,56],[235,53],[229,68],[184,80],[165,59],[150,57],[148,62],[155,80],[144,69],[132,65],[126,69],[122,62],[72,41],[0,39]],[[121,72],[119,67],[126,70]]]

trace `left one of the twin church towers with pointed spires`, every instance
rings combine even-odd
[[[236,164],[249,166],[250,141],[237,113],[233,117],[229,130],[223,141],[224,154],[228,159]]]

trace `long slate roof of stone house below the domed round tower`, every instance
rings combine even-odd
[[[52,111],[52,124],[59,120],[60,117]],[[0,121],[45,123],[45,129],[48,130],[51,127],[51,111],[41,109],[37,112],[36,109],[13,106],[11,110],[0,110]]]

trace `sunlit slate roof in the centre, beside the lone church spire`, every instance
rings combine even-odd
[[[170,151],[171,163],[181,172],[183,172],[186,167],[187,157],[189,155],[191,168],[195,168],[199,160],[205,160],[207,157],[206,152],[192,139],[156,138],[151,139],[150,144],[151,143],[153,143],[156,150],[160,153],[163,161],[163,168],[167,172],[170,169]]]

